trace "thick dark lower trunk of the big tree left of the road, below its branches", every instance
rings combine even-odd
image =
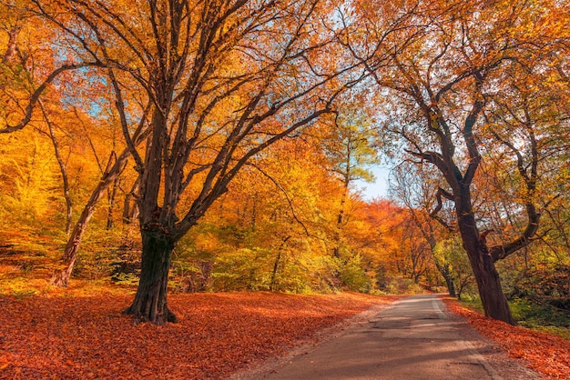
[[[168,310],[168,270],[174,242],[160,225],[141,228],[142,268],[137,295],[133,304],[123,314],[134,315],[140,322],[164,325],[178,322],[176,315]]]

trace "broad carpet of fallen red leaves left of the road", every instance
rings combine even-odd
[[[172,295],[176,325],[133,325],[132,295],[0,297],[0,378],[220,378],[395,298]]]

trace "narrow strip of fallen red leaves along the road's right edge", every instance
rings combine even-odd
[[[545,378],[570,377],[569,341],[496,321],[463,307],[453,299],[446,298],[444,301],[453,313],[466,318],[481,334],[501,345],[510,356],[526,361],[535,371],[545,375]]]

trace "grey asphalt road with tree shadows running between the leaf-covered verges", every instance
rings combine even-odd
[[[255,379],[505,379],[473,348],[437,295],[404,298]],[[476,339],[476,338],[475,338]],[[496,365],[496,364],[495,364]],[[533,375],[524,378],[534,378]]]

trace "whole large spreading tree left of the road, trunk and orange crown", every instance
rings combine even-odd
[[[127,313],[174,321],[166,293],[177,241],[250,157],[332,113],[334,99],[355,81],[346,74],[351,63],[316,62],[334,42],[333,32],[308,32],[326,26],[320,24],[328,11],[317,2],[149,2],[142,15],[97,3],[36,6],[81,53],[69,59],[106,75],[140,175],[142,271]],[[127,110],[141,93],[152,103],[144,154]]]

